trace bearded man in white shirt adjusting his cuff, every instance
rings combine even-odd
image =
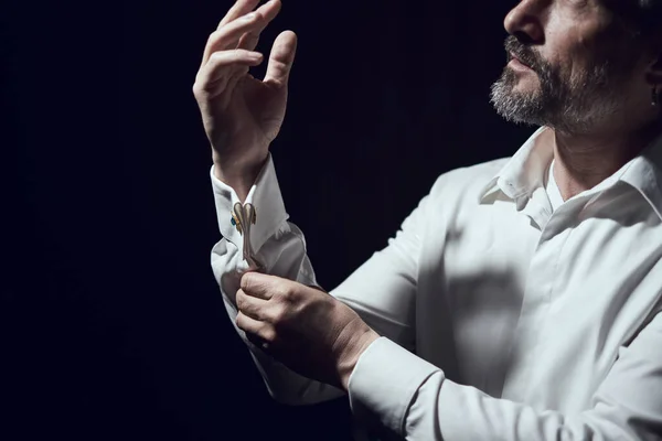
[[[496,111],[540,126],[441,175],[327,294],[268,152],[296,36],[248,75],[279,0],[238,0],[194,85],[224,239],[212,266],[271,395],[349,394],[412,440],[662,439],[662,2],[524,0]]]

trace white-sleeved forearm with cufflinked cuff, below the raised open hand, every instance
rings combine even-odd
[[[250,238],[256,250],[255,257],[264,266],[266,273],[308,286],[316,284],[302,234],[293,224],[287,222],[271,163],[266,165],[258,181],[265,185],[259,191],[253,190],[247,195],[247,202],[254,203],[257,209],[257,223]],[[229,191],[226,185],[214,182],[218,224],[224,239],[212,250],[212,269],[221,288],[228,316],[250,351],[269,392],[278,401],[290,405],[314,404],[342,396],[343,391],[302,377],[275,362],[252,344],[244,332],[236,327],[235,295],[239,289],[241,276],[248,270],[248,263],[242,254],[244,238],[229,220],[229,207],[239,196]]]

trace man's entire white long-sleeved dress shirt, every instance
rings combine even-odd
[[[662,439],[662,139],[553,209],[549,135],[439,176],[388,246],[331,291],[382,336],[350,378],[357,418],[408,440]],[[212,181],[224,236],[212,267],[234,323],[246,270],[237,196],[213,170]],[[246,202],[266,272],[317,284],[271,160]],[[276,399],[342,394],[237,332]]]

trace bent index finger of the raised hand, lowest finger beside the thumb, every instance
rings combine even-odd
[[[197,74],[196,87],[218,92],[221,79],[228,79],[238,68],[248,69],[263,62],[263,54],[244,50],[215,52]],[[223,87],[224,88],[224,87]]]

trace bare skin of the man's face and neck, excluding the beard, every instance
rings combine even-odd
[[[505,30],[525,40],[547,62],[565,72],[581,75],[589,54],[596,51],[632,51],[613,41],[616,18],[599,0],[524,0],[505,18]],[[620,36],[624,41],[624,36]],[[532,71],[517,71],[516,93],[533,94],[540,88]],[[554,178],[564,200],[592,189],[613,174],[660,135],[660,110],[651,106],[651,88],[662,85],[660,51],[642,51],[621,83],[621,108],[598,121],[587,132],[548,132],[543,140],[553,144]]]

